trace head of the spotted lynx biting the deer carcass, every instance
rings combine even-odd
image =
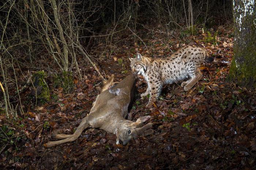
[[[136,53],[136,58],[129,58],[129,60],[131,61],[132,72],[144,76],[151,58],[143,57],[140,53]]]

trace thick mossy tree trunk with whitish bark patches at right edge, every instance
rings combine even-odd
[[[255,0],[234,0],[234,56],[229,78],[238,85],[256,87]]]

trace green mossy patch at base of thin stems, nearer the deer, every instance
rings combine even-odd
[[[64,93],[71,93],[74,88],[74,82],[71,72],[55,74],[53,77],[53,87],[63,88]]]

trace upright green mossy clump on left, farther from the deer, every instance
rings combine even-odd
[[[33,75],[34,86],[37,89],[39,89],[39,88],[41,89],[41,90],[37,90],[38,92],[40,91],[40,93],[38,94],[37,97],[41,103],[50,101],[50,89],[45,82],[46,77],[47,77],[47,74],[44,71],[36,72]]]

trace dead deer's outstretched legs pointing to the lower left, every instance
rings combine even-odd
[[[89,123],[87,122],[86,118],[83,118],[82,122],[80,123],[80,125],[78,126],[78,128],[76,129],[73,135],[65,135],[65,134],[55,135],[56,138],[63,139],[63,140],[48,142],[48,143],[45,143],[44,146],[53,147],[62,143],[73,142],[82,134],[83,130],[86,129],[87,127],[89,127]]]

